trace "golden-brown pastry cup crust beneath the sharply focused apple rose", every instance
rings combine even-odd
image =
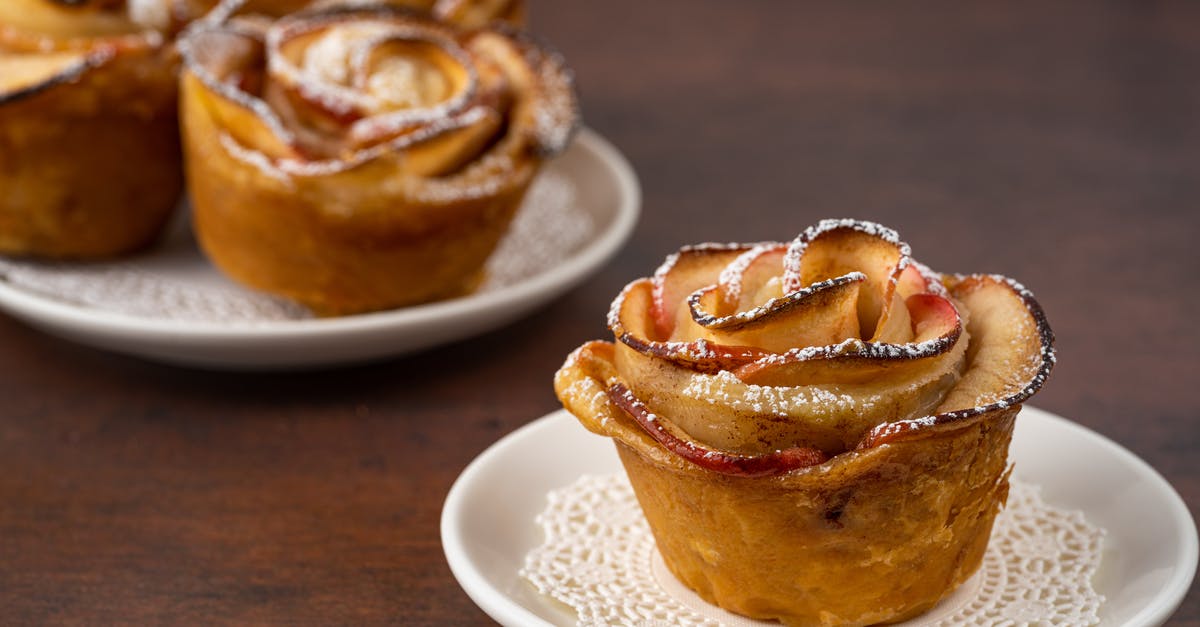
[[[896,622],[979,567],[1019,406],[784,476],[732,476],[665,450],[610,400],[611,353],[584,345],[556,389],[613,438],[667,568],[709,603],[788,625]]]

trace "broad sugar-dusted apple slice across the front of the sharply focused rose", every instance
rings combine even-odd
[[[830,372],[814,381],[740,381],[737,368],[754,348],[702,344],[618,342],[613,363],[624,382],[652,411],[690,437],[722,450],[764,454],[792,446],[835,454],[856,446],[876,424],[928,416],[959,372],[966,341],[923,359],[888,360],[865,372],[858,363],[816,359]],[[700,342],[696,342],[700,344]],[[668,353],[678,347],[678,353]],[[760,356],[769,362],[776,356]],[[839,374],[850,370],[856,377]],[[865,372],[865,374],[864,374]],[[870,375],[870,376],[866,376]]]

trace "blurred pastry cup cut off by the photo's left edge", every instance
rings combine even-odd
[[[172,35],[210,2],[0,2],[0,253],[150,244],[182,190]]]

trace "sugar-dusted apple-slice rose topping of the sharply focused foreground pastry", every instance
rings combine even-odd
[[[626,286],[610,312],[612,359],[641,408],[623,407],[710,453],[838,455],[912,429],[887,425],[1019,402],[1049,354],[1036,303],[1007,280],[923,271],[902,243],[852,228],[796,249],[689,247]],[[790,285],[802,287],[776,295]],[[878,316],[870,330],[864,311]]]

